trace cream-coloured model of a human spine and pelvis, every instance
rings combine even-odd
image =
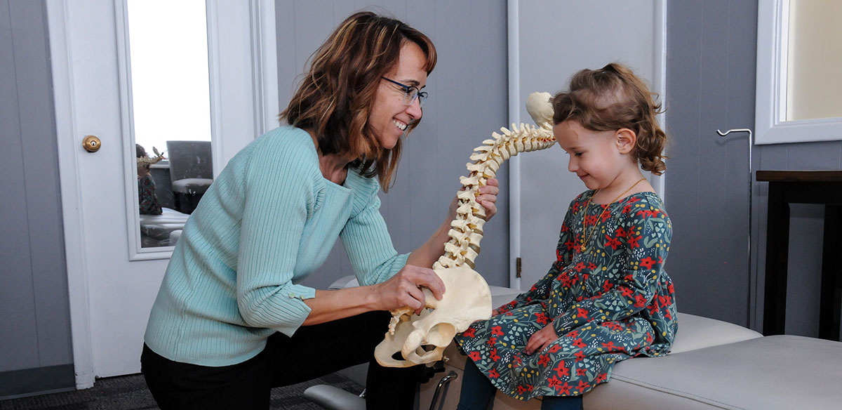
[[[392,311],[392,322],[383,341],[375,349],[377,362],[389,367],[408,367],[433,363],[441,359],[445,348],[472,322],[491,317],[491,292],[482,276],[473,270],[482,240],[485,208],[477,203],[477,189],[494,178],[500,164],[518,155],[549,148],[556,142],[552,136],[552,104],[549,93],[532,93],[526,110],[536,125],[512,124],[493,133],[493,139],[482,141],[474,149],[467,164],[468,175],[461,177],[464,187],[456,195],[459,207],[456,219],[450,222],[450,241],[433,269],[445,283],[445,295],[439,301],[424,289],[426,309],[413,315],[408,306]],[[433,347],[427,350],[425,347]],[[403,359],[395,359],[397,352]]]

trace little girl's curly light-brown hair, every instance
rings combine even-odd
[[[570,79],[570,89],[552,99],[552,123],[575,120],[587,130],[610,131],[628,128],[637,134],[632,158],[641,168],[660,175],[666,170],[663,155],[667,135],[658,125],[657,94],[632,70],[611,63],[599,70],[582,70]]]

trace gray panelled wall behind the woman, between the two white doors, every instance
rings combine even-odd
[[[408,137],[397,178],[381,194],[381,213],[398,252],[411,252],[442,221],[460,188],[473,148],[505,125],[507,111],[506,2],[276,1],[280,106],[285,108],[307,58],[337,24],[362,8],[388,13],[434,41],[439,62],[427,81],[424,120]],[[508,182],[508,168],[498,172]],[[509,203],[504,192],[498,216],[485,226],[477,272],[490,285],[509,285]],[[321,271],[304,282],[326,288],[354,274],[341,244]]]

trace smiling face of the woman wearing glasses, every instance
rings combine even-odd
[[[383,77],[421,89],[427,84],[427,71],[424,69],[426,63],[427,57],[421,47],[407,41],[401,47],[397,67]],[[368,121],[377,141],[386,149],[392,149],[407,127],[422,115],[420,101],[414,99],[407,105],[404,103],[404,94],[397,84],[380,80]]]

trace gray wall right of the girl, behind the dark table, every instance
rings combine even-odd
[[[761,330],[768,185],[751,183],[749,269],[748,136],[716,133],[754,129],[757,1],[669,2],[667,13],[664,200],[679,311]],[[840,141],[754,146],[752,155],[755,171],[842,168]],[[792,217],[786,333],[817,336],[823,210],[794,205]]]

